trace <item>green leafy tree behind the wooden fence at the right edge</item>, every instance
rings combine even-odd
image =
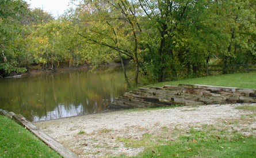
[[[254,62],[255,55],[255,2],[223,1],[216,2],[216,12],[223,25],[221,33],[228,37],[224,51],[217,54],[224,64],[223,74],[227,74],[228,64]]]

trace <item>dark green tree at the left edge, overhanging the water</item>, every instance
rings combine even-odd
[[[21,20],[27,13],[28,4],[24,1],[0,1],[0,76],[26,71],[18,60],[25,52],[26,30]]]

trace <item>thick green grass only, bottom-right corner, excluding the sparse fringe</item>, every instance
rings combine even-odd
[[[227,130],[193,130],[137,157],[255,157],[256,138]]]

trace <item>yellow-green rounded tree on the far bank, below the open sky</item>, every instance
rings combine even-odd
[[[43,70],[54,70],[56,67],[75,65],[74,30],[72,22],[52,20],[48,24],[39,25],[30,34],[29,51],[34,63],[42,65]]]

